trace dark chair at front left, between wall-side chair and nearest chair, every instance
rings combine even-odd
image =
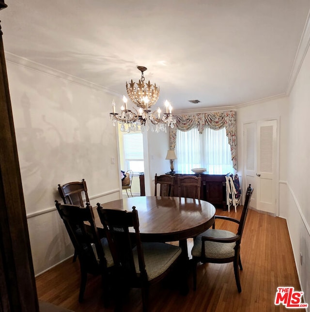
[[[62,218],[74,249],[78,253],[80,265],[80,289],[78,301],[82,302],[87,274],[101,275],[104,288],[104,304],[109,303],[109,275],[113,268],[113,258],[106,237],[99,238],[94,221],[93,208],[90,203],[86,207],[61,204],[55,201],[56,208]],[[88,222],[89,225],[86,225]]]

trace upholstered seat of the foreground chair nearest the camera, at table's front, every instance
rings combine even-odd
[[[164,273],[181,254],[181,248],[164,243],[142,243],[145,269],[151,281]],[[136,272],[140,273],[137,249],[133,249]]]

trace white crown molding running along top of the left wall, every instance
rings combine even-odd
[[[28,68],[28,69],[34,70],[36,72],[40,72],[40,73],[43,73],[43,74],[46,74],[46,75],[49,75],[49,76],[52,76],[55,78],[66,80],[66,81],[69,81],[71,83],[74,83],[74,84],[77,84],[77,85],[80,85],[83,87],[87,87],[89,89],[105,92],[105,93],[112,94],[115,96],[120,96],[120,97],[123,96],[123,95],[118,94],[118,93],[116,93],[116,92],[114,92],[114,91],[112,91],[112,90],[110,90],[104,86],[100,86],[100,85],[95,84],[93,82],[90,82],[90,81],[87,81],[87,80],[66,74],[60,70],[48,67],[46,65],[43,65],[43,64],[40,64],[37,62],[33,62],[29,59],[23,58],[21,56],[18,56],[16,54],[13,54],[13,53],[8,52],[8,51],[5,51],[5,60],[6,60],[6,62],[16,64],[18,66],[22,66],[22,67],[25,67],[25,68]]]

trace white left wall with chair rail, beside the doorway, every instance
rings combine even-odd
[[[57,186],[87,182],[93,206],[120,197],[113,96],[62,77],[7,62],[18,157],[35,274],[72,255],[55,210]],[[26,67],[27,66],[27,67]],[[40,68],[39,68],[40,69]],[[55,74],[55,75],[54,75]]]

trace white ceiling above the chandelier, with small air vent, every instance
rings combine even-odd
[[[140,78],[136,66],[146,66],[158,104],[168,99],[177,110],[285,94],[310,9],[310,0],[5,2],[7,55],[120,95],[125,81]]]

